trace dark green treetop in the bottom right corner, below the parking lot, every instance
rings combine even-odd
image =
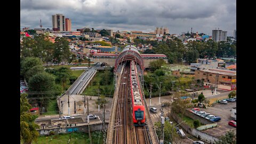
[[[236,144],[236,134],[233,131],[228,131],[220,137],[219,141],[215,141],[215,144]]]

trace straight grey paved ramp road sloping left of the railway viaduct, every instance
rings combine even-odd
[[[81,90],[82,86],[87,83],[99,65],[93,66],[85,71],[69,89],[69,94],[77,94]]]

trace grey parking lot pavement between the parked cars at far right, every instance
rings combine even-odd
[[[236,133],[236,127],[228,125],[231,118],[231,108],[236,107],[236,102],[228,102],[227,104],[215,103],[212,107],[200,108],[201,111],[210,113],[214,116],[221,117],[221,121],[217,122],[217,127],[204,130],[203,132],[213,135],[219,138],[221,135],[225,135],[226,132],[234,130]]]

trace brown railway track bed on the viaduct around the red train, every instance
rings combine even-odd
[[[151,144],[147,125],[135,127],[132,121],[129,71],[130,67],[126,65],[119,85],[115,131],[112,142],[115,144]]]

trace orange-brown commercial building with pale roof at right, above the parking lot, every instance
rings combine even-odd
[[[222,90],[236,90],[236,71],[225,69],[195,70],[195,80],[201,80],[204,87],[216,87]]]

